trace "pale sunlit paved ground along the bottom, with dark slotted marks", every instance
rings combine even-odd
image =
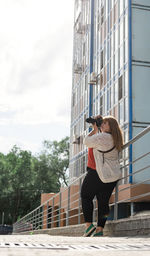
[[[1,256],[150,256],[150,237],[0,236]]]

